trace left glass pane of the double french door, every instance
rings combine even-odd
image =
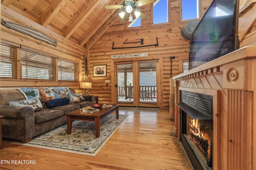
[[[132,63],[117,65],[118,102],[133,102]]]

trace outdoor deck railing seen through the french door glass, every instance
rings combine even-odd
[[[140,86],[140,100],[156,100],[156,86]],[[118,86],[118,99],[133,99],[133,86]]]

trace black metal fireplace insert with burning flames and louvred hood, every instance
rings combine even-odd
[[[195,170],[212,170],[213,97],[180,91],[180,141]]]

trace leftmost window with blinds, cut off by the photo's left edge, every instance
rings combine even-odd
[[[0,77],[17,78],[17,47],[1,43]]]

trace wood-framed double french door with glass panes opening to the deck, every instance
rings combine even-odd
[[[159,107],[158,61],[115,63],[115,102],[120,106]]]

